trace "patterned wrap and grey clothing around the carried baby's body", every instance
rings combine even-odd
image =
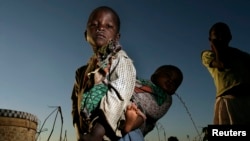
[[[140,127],[144,136],[152,131],[172,104],[172,96],[149,80],[137,78],[132,101],[137,104],[147,119]]]

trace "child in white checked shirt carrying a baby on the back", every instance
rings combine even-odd
[[[102,140],[104,134],[108,140],[117,140],[122,136],[118,125],[134,91],[136,70],[132,60],[118,44],[119,31],[120,18],[113,9],[101,6],[90,14],[85,38],[92,46],[94,54],[87,65],[76,70],[71,96],[73,125],[78,140],[84,140],[87,137],[85,134],[99,125],[105,127],[105,132],[100,132],[101,136],[86,140]],[[110,63],[106,64],[107,62]],[[82,100],[92,89],[102,87],[95,84],[99,83],[98,81],[107,85],[108,91],[93,114],[82,104]]]

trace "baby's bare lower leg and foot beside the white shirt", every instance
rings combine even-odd
[[[124,133],[128,133],[131,130],[139,128],[146,119],[146,116],[141,112],[140,109],[137,108],[137,106],[134,103],[132,103],[127,107],[125,117],[126,121],[125,121]]]

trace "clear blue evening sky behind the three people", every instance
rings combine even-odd
[[[114,8],[121,18],[121,44],[133,59],[137,75],[150,78],[160,65],[173,64],[184,74],[168,113],[159,120],[160,138],[185,141],[198,137],[212,123],[215,88],[201,64],[201,51],[210,49],[208,30],[226,22],[233,34],[231,46],[250,52],[248,0],[0,0],[0,108],[36,115],[40,124],[61,106],[67,139],[75,140],[71,118],[71,91],[75,70],[92,54],[84,40],[90,12],[101,5]],[[189,116],[191,115],[192,120]],[[55,115],[40,135],[47,140]],[[164,130],[162,130],[164,129]],[[59,139],[60,119],[53,140]],[[158,140],[157,130],[146,136]]]

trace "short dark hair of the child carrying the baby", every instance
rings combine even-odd
[[[120,20],[120,17],[119,15],[117,14],[117,12],[112,9],[111,7],[108,7],[108,6],[100,6],[100,7],[97,7],[96,9],[94,9],[92,11],[92,13],[90,14],[89,16],[89,20],[90,18],[93,16],[93,14],[95,14],[97,11],[99,10],[107,10],[107,11],[110,11],[111,13],[113,13],[115,15],[115,18],[116,18],[116,24],[117,24],[117,32],[119,33],[120,32],[120,27],[121,27],[121,20]],[[88,21],[89,22],[89,21]]]

